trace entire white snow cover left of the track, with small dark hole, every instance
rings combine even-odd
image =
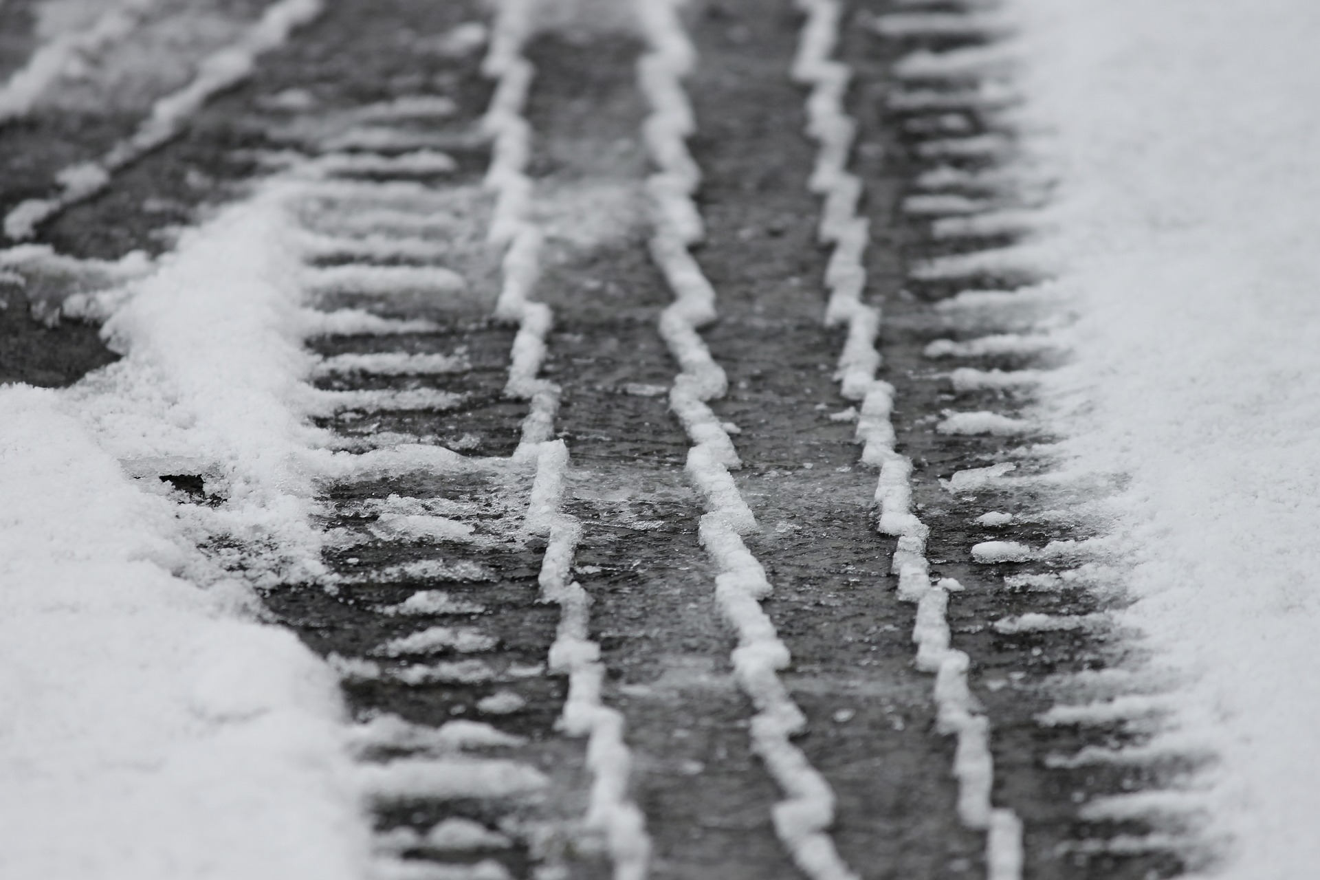
[[[0,389],[3,876],[366,869],[335,676],[195,549],[308,529],[310,364],[277,195],[132,286],[107,325],[123,360],[66,391]],[[181,472],[230,504],[165,497],[157,475]]]

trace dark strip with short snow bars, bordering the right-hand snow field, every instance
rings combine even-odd
[[[936,431],[896,420],[898,435],[920,462],[928,551],[966,586],[950,615],[979,662],[973,694],[997,719],[997,790],[1026,823],[1026,871],[1179,875],[1195,817],[1177,789],[1204,759],[1146,748],[1170,682],[1104,613],[1122,600],[1102,537],[1107,489],[1053,474],[1048,445],[1016,446],[1049,439],[1032,393],[1065,356],[1069,317],[1030,247],[1049,185],[1014,129],[1011,22],[946,4],[882,15],[874,30],[895,54],[873,124],[896,132],[887,145],[911,179],[900,210],[920,297],[895,301],[887,350],[891,369],[929,377],[906,383],[904,409],[940,413]],[[956,368],[932,373],[932,361]]]

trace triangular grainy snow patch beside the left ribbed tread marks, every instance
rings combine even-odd
[[[321,573],[308,516],[329,458],[302,418],[317,394],[302,381],[313,356],[301,344],[290,186],[268,185],[185,234],[106,323],[124,360],[67,392],[98,442],[139,472],[205,476],[227,504],[194,515],[279,548],[249,561],[271,582]]]

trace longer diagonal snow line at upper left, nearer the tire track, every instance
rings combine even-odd
[[[177,136],[189,117],[216,92],[251,75],[257,55],[284,44],[294,28],[321,13],[322,0],[279,0],[234,44],[211,53],[198,65],[197,75],[182,88],[160,98],[132,137],[116,144],[99,160],[70,165],[55,175],[61,191],[45,199],[28,199],[4,219],[11,239],[30,239],[37,226],[65,208],[104,190],[121,168]]]

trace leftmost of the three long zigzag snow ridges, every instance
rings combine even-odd
[[[517,322],[504,393],[531,401],[515,459],[533,458],[536,476],[525,529],[548,540],[539,583],[541,598],[560,606],[560,623],[549,665],[568,674],[569,693],[561,722],[570,736],[587,738],[591,793],[583,825],[605,835],[615,880],[643,880],[651,860],[645,815],[628,797],[632,755],[623,740],[623,715],[605,706],[601,646],[589,636],[591,598],[572,578],[573,555],[582,533],[578,520],[560,508],[569,468],[568,445],[554,439],[560,388],[537,377],[545,360],[545,336],[553,313],[529,298],[540,274],[541,231],[528,219],[532,181],[525,173],[531,125],[523,116],[536,70],[523,55],[532,33],[531,12],[539,0],[502,0],[482,70],[496,80],[482,124],[494,139],[486,186],[495,191],[488,239],[504,248],[502,288],[495,317]]]

